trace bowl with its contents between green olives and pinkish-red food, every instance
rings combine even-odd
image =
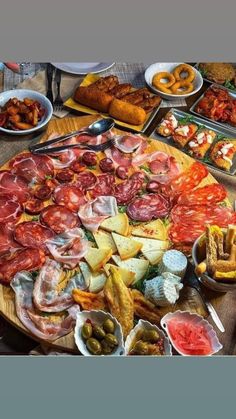
[[[125,355],[172,355],[165,333],[146,320],[139,320],[125,341]]]

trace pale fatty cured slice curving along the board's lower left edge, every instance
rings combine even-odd
[[[67,335],[74,327],[78,305],[67,310],[65,316],[55,319],[37,314],[33,305],[34,280],[28,272],[19,272],[11,282],[15,292],[16,314],[22,324],[39,339],[54,341]]]

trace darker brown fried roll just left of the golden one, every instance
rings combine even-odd
[[[100,112],[108,113],[113,96],[105,93],[95,87],[77,87],[74,93],[74,100],[89,108]]]

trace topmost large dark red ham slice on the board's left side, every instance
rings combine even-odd
[[[22,153],[10,161],[12,173],[24,177],[28,182],[40,182],[54,176],[53,161],[45,155]]]

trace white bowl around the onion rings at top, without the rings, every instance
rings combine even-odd
[[[145,75],[144,75],[146,83],[148,84],[150,89],[153,90],[155,93],[158,93],[158,95],[160,95],[161,97],[167,100],[176,99],[176,98],[185,99],[189,96],[195,95],[195,93],[197,93],[203,85],[203,78],[202,78],[201,73],[194,67],[192,67],[195,73],[195,79],[193,81],[194,90],[191,93],[186,93],[184,95],[168,94],[168,93],[162,92],[161,90],[156,89],[152,85],[152,79],[156,73],[160,73],[163,71],[167,71],[168,73],[171,73],[175,69],[175,67],[177,67],[180,64],[184,64],[184,63],[155,63],[155,64],[150,65],[146,69]]]

